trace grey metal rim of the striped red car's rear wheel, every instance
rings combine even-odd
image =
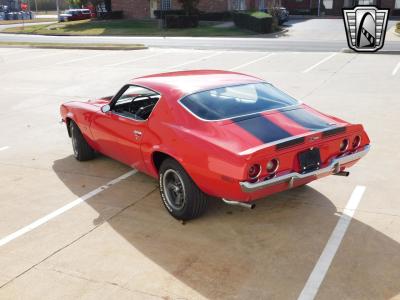
[[[164,173],[163,186],[165,198],[175,210],[185,206],[186,192],[182,177],[175,170],[169,169]]]

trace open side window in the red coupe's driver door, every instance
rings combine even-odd
[[[156,106],[160,95],[144,87],[129,85],[118,97],[113,111],[135,120],[147,120]]]

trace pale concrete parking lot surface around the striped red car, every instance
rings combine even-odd
[[[0,299],[400,298],[399,55],[0,48],[0,67]],[[348,178],[255,210],[213,202],[186,224],[165,211],[155,180],[132,172],[106,185],[130,169],[75,161],[62,102],[209,68],[259,76],[364,124],[372,150]]]

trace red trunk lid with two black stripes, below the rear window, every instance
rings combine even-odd
[[[236,117],[218,125],[218,134],[214,133],[218,144],[240,155],[249,155],[261,149],[289,148],[303,143],[306,137],[318,139],[321,132],[338,134],[348,123],[301,105]]]

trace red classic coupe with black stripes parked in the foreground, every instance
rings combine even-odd
[[[113,97],[65,103],[61,115],[76,159],[99,152],[158,178],[165,207],[181,220],[203,213],[211,197],[252,208],[323,176],[347,176],[370,147],[362,125],[225,71],[136,78]]]

